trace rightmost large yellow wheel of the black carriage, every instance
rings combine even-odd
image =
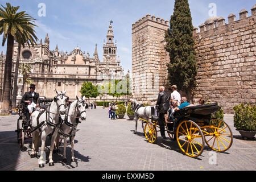
[[[221,119],[211,119],[210,126],[205,127],[205,142],[214,151],[229,150],[233,143],[233,134],[228,124]]]

